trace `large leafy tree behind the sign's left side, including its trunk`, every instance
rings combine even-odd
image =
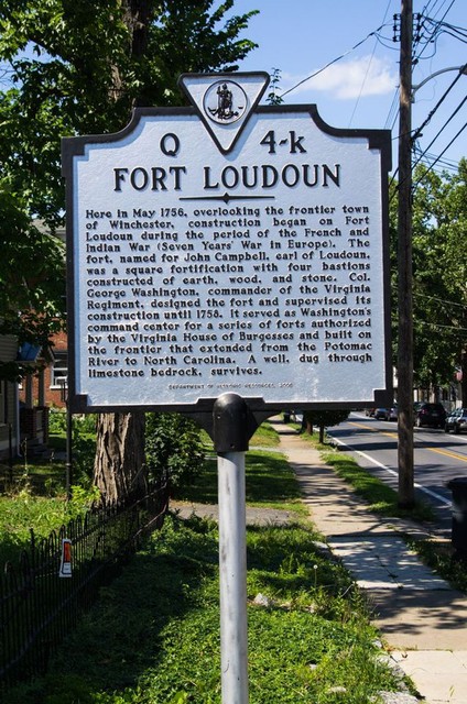
[[[18,222],[31,262],[44,272],[55,262],[30,223],[39,218],[52,233],[63,224],[61,138],[119,131],[135,106],[180,105],[183,73],[237,69],[254,47],[240,36],[254,11],[234,15],[232,8],[234,0],[2,0],[0,164],[13,199],[9,223]],[[9,266],[21,271],[13,250]],[[55,300],[47,293],[44,306]],[[137,415],[99,416],[95,480],[106,499],[139,483],[144,424]]]

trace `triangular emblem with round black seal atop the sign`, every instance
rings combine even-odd
[[[234,148],[270,81],[264,72],[184,74],[178,84],[219,150]]]

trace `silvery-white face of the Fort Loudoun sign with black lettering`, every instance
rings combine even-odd
[[[236,116],[215,84],[206,121],[144,110],[70,157],[74,392],[371,403],[390,375],[382,151],[302,106]],[[242,122],[227,153],[209,119]]]

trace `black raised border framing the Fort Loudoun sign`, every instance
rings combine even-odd
[[[213,75],[218,78],[219,75]],[[221,76],[227,76],[221,74]],[[238,80],[239,76],[229,77]],[[316,105],[258,106],[252,112],[258,114],[308,113],[316,127],[324,133],[336,138],[366,139],[368,148],[381,153],[381,227],[382,227],[382,261],[383,261],[383,310],[384,319],[384,362],[385,388],[374,389],[373,398],[368,402],[281,402],[281,405],[267,403],[262,397],[243,397],[254,424],[276,415],[280,410],[300,409],[358,409],[373,405],[388,407],[393,403],[392,392],[392,354],[391,354],[391,306],[390,306],[390,256],[389,256],[389,187],[388,174],[391,169],[391,132],[389,130],[340,129],[327,124],[319,116]],[[72,413],[130,413],[130,411],[173,411],[194,416],[199,425],[208,431],[213,422],[213,408],[217,396],[200,398],[195,404],[150,404],[131,405],[124,403],[109,406],[89,406],[87,395],[76,394],[76,339],[75,339],[75,280],[74,280],[74,158],[83,156],[87,145],[118,142],[131,134],[140,121],[145,117],[198,116],[199,111],[192,107],[176,108],[135,108],[130,122],[119,132],[72,136],[62,139],[62,175],[66,180],[66,264],[67,264],[67,329],[68,329],[68,405]]]

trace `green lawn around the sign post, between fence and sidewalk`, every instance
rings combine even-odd
[[[185,496],[213,502],[216,474],[213,458]],[[279,452],[247,453],[250,504],[297,508],[297,491]],[[309,524],[250,527],[247,542],[250,704],[378,704],[399,690],[361,594]],[[169,517],[9,704],[219,704],[218,588],[216,524]]]

